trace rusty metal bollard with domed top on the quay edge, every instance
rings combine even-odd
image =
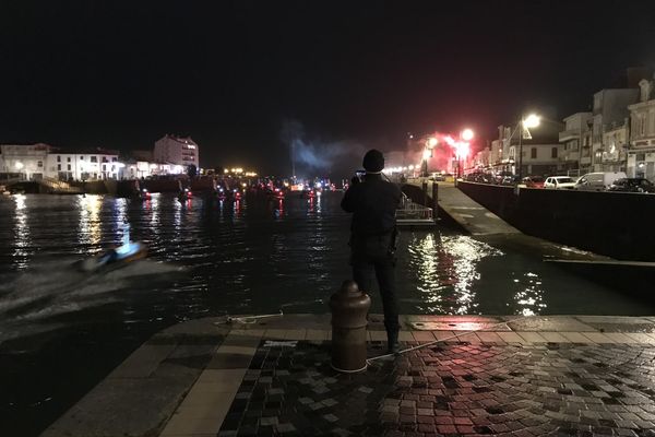
[[[343,373],[366,369],[366,316],[371,306],[368,294],[355,281],[344,281],[330,298],[332,310],[332,368]]]

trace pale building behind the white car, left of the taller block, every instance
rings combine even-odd
[[[564,130],[559,132],[561,169],[574,176],[588,173],[592,167],[593,113],[576,113],[563,121]]]

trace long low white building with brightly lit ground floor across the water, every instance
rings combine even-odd
[[[51,147],[46,174],[59,180],[118,179],[121,166],[115,150]]]

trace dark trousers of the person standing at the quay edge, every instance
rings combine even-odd
[[[390,253],[389,236],[372,236],[350,240],[353,280],[360,291],[370,293],[373,272],[378,280],[382,308],[384,309],[384,328],[386,332],[397,332],[398,300],[395,290],[395,257]]]

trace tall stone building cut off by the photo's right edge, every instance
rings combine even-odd
[[[630,145],[627,174],[655,178],[655,81],[639,83],[639,102],[630,105]]]

